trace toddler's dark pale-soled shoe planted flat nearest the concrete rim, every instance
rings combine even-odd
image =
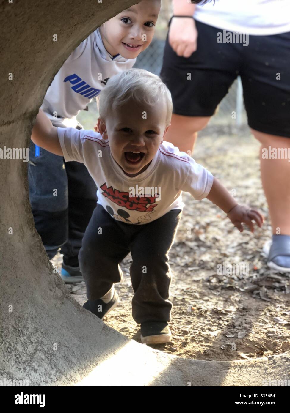
[[[164,321],[145,321],[141,323],[141,342],[143,344],[161,344],[172,340],[168,323]]]

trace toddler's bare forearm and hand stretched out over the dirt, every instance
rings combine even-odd
[[[254,220],[259,227],[261,227],[264,222],[264,217],[259,211],[239,205],[216,178],[213,178],[213,185],[206,198],[222,209],[240,232],[244,230],[242,222],[250,228],[251,232],[254,232],[254,223],[252,220]]]

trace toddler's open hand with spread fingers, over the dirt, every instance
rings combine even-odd
[[[264,216],[256,209],[250,209],[248,207],[243,207],[242,205],[233,207],[230,212],[228,212],[227,216],[241,233],[244,230],[242,222],[250,228],[252,233],[254,232],[254,223],[252,220],[255,221],[260,228],[264,222]]]

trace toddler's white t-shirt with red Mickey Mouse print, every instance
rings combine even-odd
[[[65,161],[82,162],[88,169],[98,186],[98,204],[128,224],[145,224],[171,209],[183,209],[181,191],[203,199],[213,184],[207,169],[169,142],[160,145],[146,171],[130,178],[99,133],[58,128],[58,138]]]

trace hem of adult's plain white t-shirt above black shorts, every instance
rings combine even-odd
[[[216,0],[197,5],[194,19],[250,35],[286,33],[290,31],[290,0]]]

